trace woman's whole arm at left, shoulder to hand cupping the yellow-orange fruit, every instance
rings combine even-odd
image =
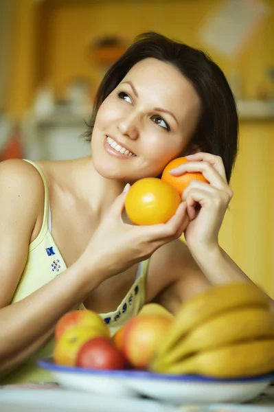
[[[56,321],[104,279],[148,258],[181,236],[185,205],[165,225],[133,227],[122,220],[126,192],[100,222],[79,260],[21,301],[10,305],[25,267],[36,220],[43,210],[40,176],[23,161],[0,163],[0,371],[22,363],[51,334]]]

